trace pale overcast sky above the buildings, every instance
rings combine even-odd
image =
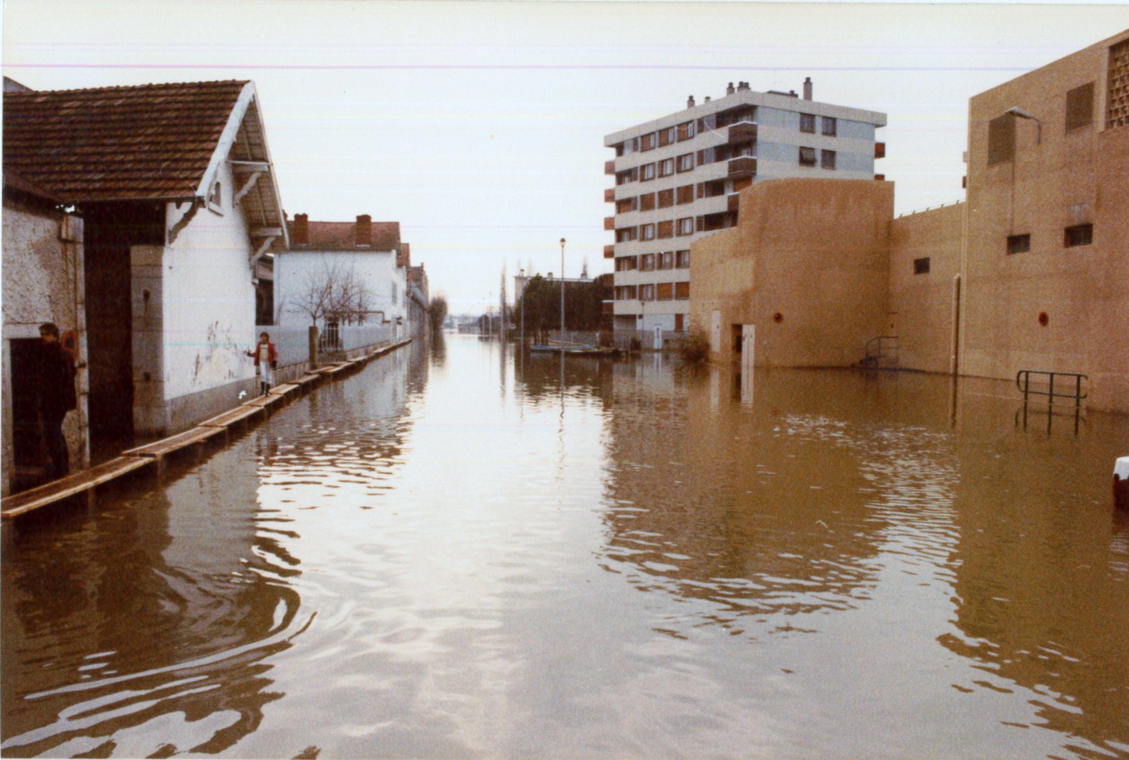
[[[502,265],[610,271],[603,136],[686,96],[800,89],[889,114],[898,212],[963,198],[970,96],[1129,27],[1129,7],[5,0],[34,89],[252,79],[287,212],[399,220],[455,313]],[[511,285],[510,291],[511,291]]]

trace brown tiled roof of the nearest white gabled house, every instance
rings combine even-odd
[[[245,81],[3,94],[3,167],[68,202],[192,198]]]

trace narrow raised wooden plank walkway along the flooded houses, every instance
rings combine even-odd
[[[326,365],[307,375],[303,375],[292,383],[286,383],[271,388],[271,392],[265,396],[252,399],[235,409],[229,409],[222,414],[207,419],[194,428],[143,446],[137,446],[123,452],[117,458],[88,468],[81,472],[72,473],[38,488],[6,497],[0,501],[0,517],[11,519],[18,515],[45,507],[55,501],[61,501],[78,493],[85,492],[93,496],[98,486],[149,464],[156,464],[156,471],[159,472],[161,460],[168,454],[187,448],[189,446],[203,444],[217,436],[226,435],[228,428],[239,423],[247,423],[252,418],[263,416],[264,411],[269,408],[273,408],[275,404],[283,404],[291,396],[297,396],[301,392],[308,391],[325,381],[335,379],[339,376],[343,376],[343,374],[349,374],[351,370],[365,366],[373,359],[391,353],[410,342],[411,339],[403,340],[399,343],[385,346],[358,359]]]

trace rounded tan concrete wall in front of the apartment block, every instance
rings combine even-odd
[[[754,324],[758,366],[858,362],[886,317],[892,213],[887,182],[776,180],[743,190],[738,226],[691,248],[691,330],[708,335],[720,312],[718,361],[735,358],[732,325]]]

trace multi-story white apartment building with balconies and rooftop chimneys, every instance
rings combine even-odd
[[[803,98],[730,82],[723,98],[691,96],[683,111],[605,137],[615,330],[684,330],[690,244],[737,224],[737,193],[779,177],[881,180],[875,130],[885,124],[882,113],[813,101],[808,78]]]

